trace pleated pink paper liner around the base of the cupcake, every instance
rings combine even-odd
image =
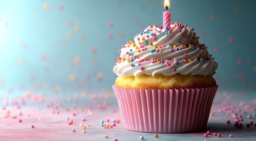
[[[125,129],[184,133],[206,127],[218,85],[200,89],[127,89],[113,85]]]

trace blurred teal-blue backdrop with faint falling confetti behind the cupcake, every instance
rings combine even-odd
[[[171,1],[171,22],[195,28],[218,62],[219,90],[255,93],[255,5]],[[1,0],[0,95],[111,91],[118,49],[146,26],[162,25],[163,11],[157,0]]]

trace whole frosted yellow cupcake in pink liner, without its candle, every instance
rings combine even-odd
[[[205,129],[218,64],[187,25],[147,26],[119,50],[113,89],[125,129],[184,133]]]

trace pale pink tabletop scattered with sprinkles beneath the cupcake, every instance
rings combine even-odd
[[[196,133],[158,134],[157,138],[154,133],[124,129],[114,94],[75,97],[27,96],[21,102],[9,99],[11,102],[0,109],[0,140],[140,140],[140,136],[144,136],[144,140],[256,140],[256,127],[246,127],[248,122],[256,122],[253,109],[256,107],[255,95],[217,93],[207,129]],[[1,99],[3,102],[5,98]],[[24,101],[26,105],[22,105]],[[236,111],[239,108],[241,112]],[[243,110],[246,113],[242,113]],[[232,112],[244,119],[241,122],[244,125],[242,128],[233,125]],[[247,118],[248,115],[250,118]],[[73,119],[76,125],[69,125],[67,117]],[[86,121],[82,122],[82,118]],[[22,119],[21,123],[19,119]],[[106,119],[120,119],[121,122],[116,123],[112,129],[104,129],[100,126],[100,121]],[[231,120],[231,124],[228,125],[226,120]],[[82,133],[80,123],[86,126],[86,133]],[[35,127],[31,128],[31,125]],[[76,132],[73,133],[72,129],[76,129]],[[204,137],[208,130],[221,133],[221,137]],[[233,137],[229,137],[230,134]],[[108,135],[108,139],[104,138],[105,135]]]

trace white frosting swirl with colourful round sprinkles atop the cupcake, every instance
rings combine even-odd
[[[214,75],[218,64],[199,44],[198,37],[186,25],[171,28],[148,26],[119,50],[114,73],[118,76],[140,75]]]

